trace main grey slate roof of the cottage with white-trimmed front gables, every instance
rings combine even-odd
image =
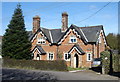
[[[69,30],[72,29],[74,30],[78,36],[83,40],[85,43],[89,42],[97,42],[97,39],[99,37],[100,31],[103,30],[103,26],[88,26],[88,27],[78,27],[75,25],[71,25],[66,32],[62,32],[61,29],[46,29],[40,27],[38,31],[35,34],[29,34],[30,40],[33,39],[33,37],[38,33],[42,32],[46,39],[51,43],[51,44],[58,44],[64,36],[69,32]]]

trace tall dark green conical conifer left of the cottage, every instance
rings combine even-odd
[[[31,43],[25,29],[21,5],[18,4],[3,36],[2,54],[14,59],[30,59]]]

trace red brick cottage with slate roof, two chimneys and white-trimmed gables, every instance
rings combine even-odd
[[[93,58],[99,58],[105,50],[106,39],[102,25],[68,27],[68,14],[62,13],[60,29],[40,26],[40,17],[33,17],[33,29],[29,31],[33,60],[65,60],[68,66],[91,67]]]

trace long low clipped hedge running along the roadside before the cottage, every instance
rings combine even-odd
[[[54,61],[35,61],[35,60],[15,60],[4,58],[3,67],[15,67],[25,69],[38,69],[38,70],[55,70],[55,71],[67,71],[66,62],[63,60]]]

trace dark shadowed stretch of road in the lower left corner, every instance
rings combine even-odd
[[[2,80],[56,80],[56,77],[42,71],[3,68]]]

